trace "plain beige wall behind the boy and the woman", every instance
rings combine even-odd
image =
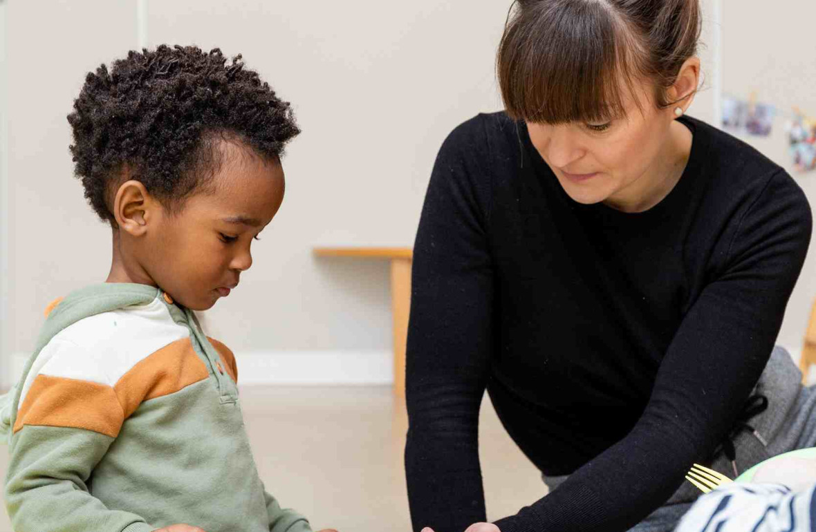
[[[286,157],[286,200],[255,244],[255,266],[208,323],[252,361],[245,376],[299,380],[319,370],[324,381],[387,380],[387,265],[316,259],[311,248],[412,244],[442,139],[476,112],[500,108],[494,50],[509,4],[10,0],[4,357],[31,349],[48,301],[104,279],[109,266],[109,232],[86,207],[68,152],[65,115],[84,73],[139,42],[195,43],[242,53],[294,104],[304,130]],[[718,94],[713,18],[706,3],[707,90],[690,110],[707,121]],[[727,64],[730,81],[751,63],[737,51]],[[778,76],[792,85],[790,73]],[[794,347],[813,292],[801,288],[786,321],[783,339]]]

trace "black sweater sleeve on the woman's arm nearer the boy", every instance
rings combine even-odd
[[[477,433],[492,349],[493,281],[477,119],[443,143],[414,248],[405,465],[414,530],[485,520]],[[480,134],[481,133],[481,134]],[[475,147],[478,145],[479,147]]]

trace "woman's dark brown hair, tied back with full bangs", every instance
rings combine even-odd
[[[697,53],[698,0],[517,0],[499,53],[508,115],[559,124],[624,114],[624,97],[654,83],[659,108]],[[511,8],[513,9],[513,8]]]

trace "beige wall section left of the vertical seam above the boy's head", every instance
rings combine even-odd
[[[111,50],[133,46],[134,6],[101,0],[6,2],[6,362],[11,353],[33,346],[43,305],[104,279],[109,267],[109,235],[86,208],[72,177],[65,116],[84,73],[109,59]]]

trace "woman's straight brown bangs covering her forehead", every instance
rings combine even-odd
[[[499,84],[508,115],[534,123],[603,123],[625,116],[636,90],[632,42],[602,2],[539,2],[508,21]],[[637,101],[637,99],[635,99]]]

